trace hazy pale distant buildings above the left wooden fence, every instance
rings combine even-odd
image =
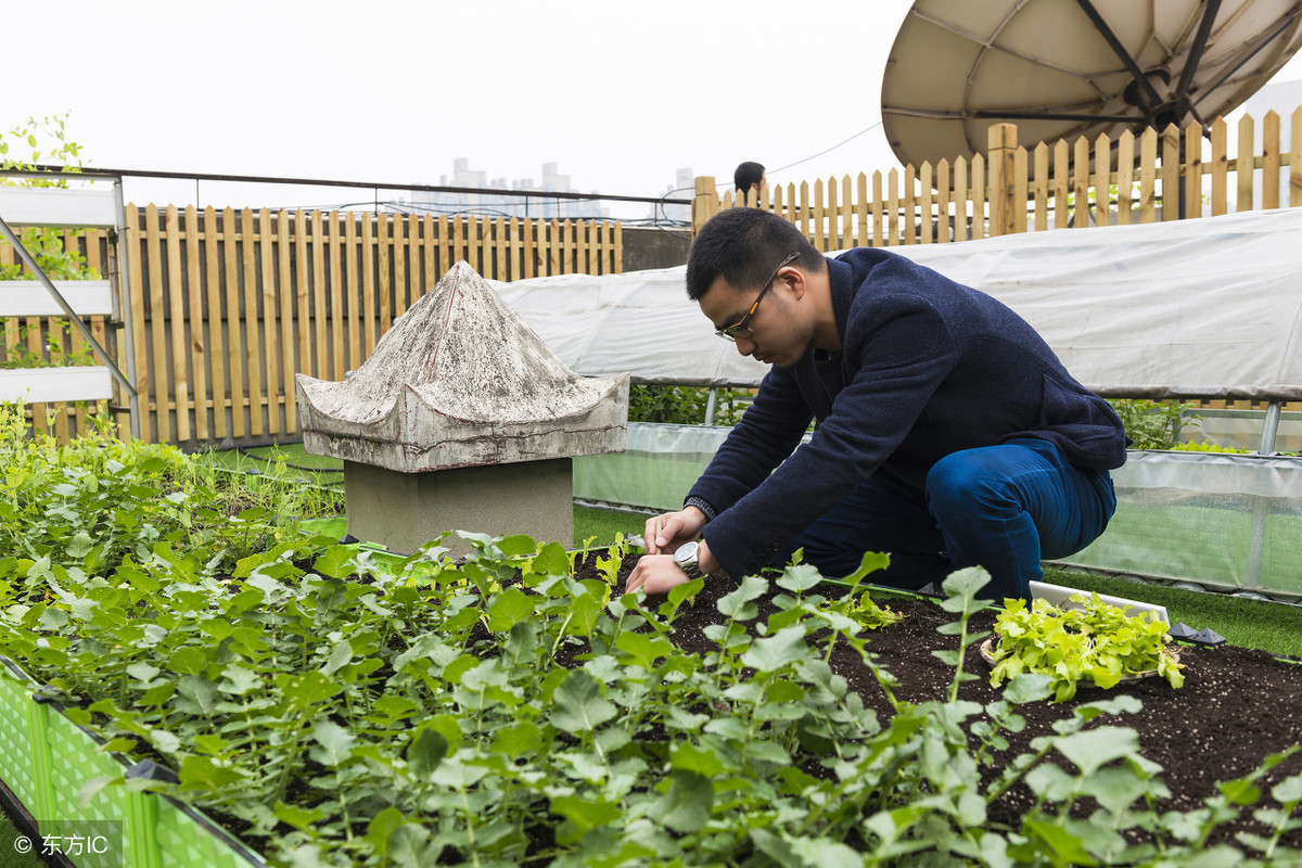
[[[452,177],[440,176],[440,187],[473,187],[477,190],[512,190],[514,195],[495,193],[422,193],[413,191],[397,202],[398,207],[431,213],[465,213],[488,217],[533,217],[534,220],[605,220],[609,210],[599,199],[552,198],[548,193],[578,193],[570,187],[568,174],[560,174],[555,163],[543,164],[543,180],[488,180],[487,172],[470,168],[470,160],[452,163]],[[535,195],[536,194],[536,195]]]

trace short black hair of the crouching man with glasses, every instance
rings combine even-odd
[[[736,289],[763,284],[790,254],[792,263],[820,272],[823,254],[793,224],[760,208],[728,208],[700,228],[687,254],[687,298],[700,301],[720,275]]]

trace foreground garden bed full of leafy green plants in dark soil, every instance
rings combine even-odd
[[[467,535],[465,560],[401,558],[228,502],[210,485],[243,476],[176,450],[0,457],[0,653],[103,751],[174,776],[60,778],[96,817],[174,798],[301,865],[1152,864],[1156,845],[1230,865],[1302,846],[1298,756],[1271,759],[1302,683],[1264,655],[1190,649],[1181,690],[1051,704],[1034,678],[988,687],[971,571],[941,604],[883,596],[909,617],[870,629],[809,566],[648,599],[621,593],[626,547]],[[958,648],[971,681],[931,653]],[[1250,681],[1253,660],[1285,681]],[[44,755],[43,731],[12,753]]]

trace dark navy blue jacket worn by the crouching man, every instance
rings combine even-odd
[[[1125,463],[1117,414],[1009,307],[884,250],[827,262],[841,353],[772,368],[689,493],[716,513],[704,539],[729,575],[766,566],[872,474],[921,497],[940,458],[1013,437],[1081,467]]]

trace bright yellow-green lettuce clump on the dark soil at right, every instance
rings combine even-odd
[[[1077,685],[1115,687],[1124,678],[1156,673],[1172,687],[1185,683],[1177,656],[1168,648],[1167,625],[1128,616],[1098,593],[1072,597],[1081,609],[1060,609],[1044,600],[1012,600],[995,619],[999,643],[991,649],[995,687],[1022,673],[1052,679],[1055,701],[1075,696]]]

